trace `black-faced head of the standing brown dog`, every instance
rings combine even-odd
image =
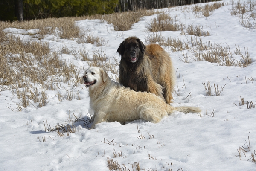
[[[137,37],[126,38],[117,49],[117,52],[126,61],[135,63],[143,57],[146,46]]]

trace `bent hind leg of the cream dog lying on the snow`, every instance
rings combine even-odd
[[[145,119],[146,121],[158,123],[161,121],[162,116],[159,116],[159,114],[163,111],[158,111],[154,105],[142,104],[138,107],[137,112],[140,115],[140,119]]]

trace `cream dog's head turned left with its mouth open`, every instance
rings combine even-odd
[[[83,79],[86,87],[98,87],[106,82],[108,74],[100,67],[90,67],[85,71]]]

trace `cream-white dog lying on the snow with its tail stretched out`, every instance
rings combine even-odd
[[[183,113],[200,112],[198,107],[172,107],[160,97],[135,92],[112,81],[107,72],[99,67],[90,67],[83,76],[84,84],[89,88],[90,107],[94,110],[91,128],[100,122],[120,122],[145,119],[157,123],[163,116],[174,111]]]

